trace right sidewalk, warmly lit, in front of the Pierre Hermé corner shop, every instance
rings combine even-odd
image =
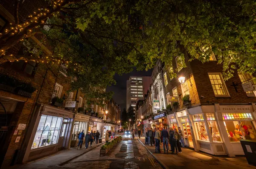
[[[141,137],[140,141],[153,154],[166,169],[256,169],[247,163],[245,157],[229,158],[227,156],[213,156],[203,152],[195,152],[192,149],[182,148],[182,153],[163,154],[163,146],[160,147],[161,154],[155,153],[155,146],[145,145],[145,137]]]

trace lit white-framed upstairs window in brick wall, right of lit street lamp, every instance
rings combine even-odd
[[[212,84],[212,89],[213,89],[214,95],[216,97],[229,96],[227,87],[224,83],[221,73],[208,73],[208,75],[209,75],[209,79]]]

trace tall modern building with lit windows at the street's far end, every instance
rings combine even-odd
[[[136,109],[138,100],[144,100],[151,83],[150,76],[130,76],[126,82],[126,109],[131,106]]]

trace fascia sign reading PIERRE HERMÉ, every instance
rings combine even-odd
[[[232,112],[232,113],[237,113],[237,112],[245,112],[245,113],[250,113],[252,112],[251,106],[250,105],[225,105],[222,106],[220,105],[220,112]]]

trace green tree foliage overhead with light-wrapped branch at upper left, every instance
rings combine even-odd
[[[203,63],[209,61],[213,51],[218,63],[223,64],[226,79],[236,69],[250,74],[256,71],[255,1],[50,2],[49,11],[39,16],[32,14],[24,21],[29,23],[19,28],[18,33],[12,35],[9,31],[0,37],[1,54],[22,38],[43,32],[54,46],[54,57],[77,64],[69,66],[69,73],[79,76],[74,89],[92,92],[105,88],[115,83],[113,74],[130,72],[132,66],[150,69],[157,59],[172,66],[176,56],[184,59],[180,46],[190,54],[191,60]],[[42,29],[46,25],[51,26],[49,31]],[[5,55],[0,62],[11,59],[13,56]]]

